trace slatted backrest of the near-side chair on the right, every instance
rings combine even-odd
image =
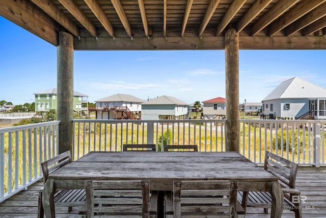
[[[183,215],[237,216],[237,186],[233,180],[173,182],[174,217]]]

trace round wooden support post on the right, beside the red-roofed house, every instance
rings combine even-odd
[[[225,33],[226,150],[239,151],[239,34]]]

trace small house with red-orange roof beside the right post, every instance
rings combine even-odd
[[[224,119],[226,117],[226,99],[222,97],[203,101],[203,116],[206,119]]]

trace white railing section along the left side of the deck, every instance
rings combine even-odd
[[[42,178],[40,163],[58,155],[59,123],[0,128],[0,202]]]

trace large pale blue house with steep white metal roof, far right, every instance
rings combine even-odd
[[[263,100],[269,118],[326,118],[326,88],[294,77],[282,82]]]

